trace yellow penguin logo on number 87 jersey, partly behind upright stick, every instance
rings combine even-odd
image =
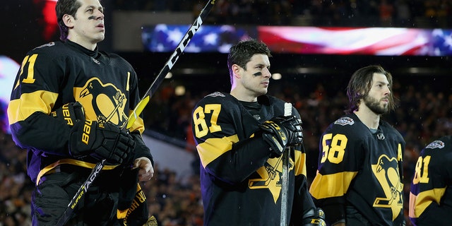
[[[289,158],[289,172],[294,167],[292,158]],[[259,177],[249,179],[249,189],[268,189],[273,195],[273,201],[278,201],[281,193],[282,175],[283,175],[283,157],[269,158],[263,167],[257,169]]]

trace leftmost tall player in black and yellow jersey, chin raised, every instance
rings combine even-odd
[[[130,133],[120,129],[140,100],[136,73],[117,54],[97,49],[105,38],[99,0],[59,0],[56,11],[61,42],[28,52],[8,105],[13,140],[28,151],[36,184],[32,225],[56,225],[103,159],[67,225],[143,225],[148,211],[138,181],[153,177],[153,157],[141,118]]]

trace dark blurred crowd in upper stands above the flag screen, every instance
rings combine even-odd
[[[115,10],[192,11],[203,0],[115,0]],[[207,23],[450,28],[450,0],[217,0]]]

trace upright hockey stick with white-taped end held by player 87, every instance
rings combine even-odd
[[[292,104],[284,104],[284,116],[292,115]],[[280,225],[287,226],[287,193],[289,190],[289,165],[291,148],[285,148],[283,153],[283,175],[281,176],[281,218]]]

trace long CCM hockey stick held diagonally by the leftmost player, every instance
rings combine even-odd
[[[201,13],[199,13],[199,16],[196,18],[194,23],[190,26],[189,30],[186,32],[185,36],[182,38],[181,42],[177,45],[177,48],[172,53],[171,57],[169,57],[168,61],[166,62],[165,66],[163,66],[162,70],[160,70],[160,73],[157,74],[157,77],[153,81],[153,83],[150,85],[149,89],[146,91],[143,98],[138,102],[135,109],[133,109],[133,112],[129,115],[129,119],[127,119],[125,129],[129,130],[133,123],[136,121],[138,116],[143,112],[143,109],[146,105],[148,105],[148,102],[150,100],[150,97],[155,93],[159,85],[162,83],[162,81],[165,79],[165,76],[169,72],[169,70],[172,69],[172,66],[176,63],[177,59],[179,59],[179,56],[184,52],[185,47],[189,44],[191,38],[195,35],[196,31],[201,27],[203,24],[203,20],[206,19],[206,16],[210,12],[210,9],[213,8],[213,5],[215,4],[215,0],[209,0],[206,6],[201,10]],[[123,126],[123,127],[124,127]],[[66,210],[64,210],[64,213],[61,215],[57,222],[57,226],[63,226],[66,225],[66,222],[71,217],[71,214],[73,213],[73,210],[76,208],[78,201],[83,198],[86,191],[88,191],[88,188],[91,184],[93,184],[94,180],[97,178],[97,176],[100,174],[100,171],[105,165],[105,159],[101,160],[100,162],[97,162],[93,170],[91,171],[90,175],[88,176],[88,179],[86,179],[85,182],[83,182],[83,185],[78,189],[77,193],[73,196],[72,200],[69,202],[69,205],[66,207]]]

